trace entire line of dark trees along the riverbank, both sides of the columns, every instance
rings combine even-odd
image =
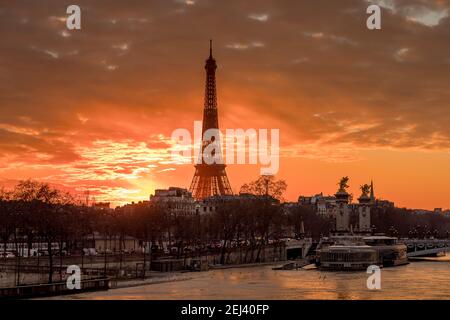
[[[0,241],[14,242],[16,251],[20,243],[44,242],[48,251],[49,282],[52,281],[54,255],[52,244],[59,243],[62,259],[63,244],[67,249],[84,248],[89,235],[95,231],[107,237],[125,236],[139,239],[144,252],[152,251],[148,243],[168,243],[183,254],[184,248],[208,250],[208,246],[221,242],[220,260],[232,246],[246,246],[256,254],[250,261],[258,261],[264,245],[295,234],[318,239],[334,227],[332,217],[317,215],[309,206],[294,206],[285,210],[281,200],[286,183],[273,177],[260,177],[241,189],[247,196],[224,201],[213,214],[174,215],[167,203],[138,203],[114,210],[99,210],[77,204],[64,192],[48,184],[22,181],[11,191],[0,191]],[[372,208],[372,223],[376,232],[398,236],[420,235],[434,232],[445,236],[450,230],[450,219],[435,215],[416,215],[405,209]],[[416,233],[413,233],[413,230]],[[160,246],[161,247],[161,246]],[[106,258],[106,256],[105,256]],[[146,257],[144,254],[144,259]],[[62,261],[60,261],[62,264]],[[144,261],[145,265],[145,261]],[[106,264],[105,264],[106,266]],[[105,270],[106,271],[106,270]]]

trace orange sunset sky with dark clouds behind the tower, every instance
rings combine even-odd
[[[220,126],[280,129],[287,200],[349,176],[356,196],[373,179],[397,206],[450,208],[449,15],[446,0],[2,1],[0,185],[114,205],[188,188],[170,136],[202,119],[213,38]],[[238,192],[259,166],[227,173]]]

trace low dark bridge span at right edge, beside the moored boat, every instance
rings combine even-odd
[[[432,256],[450,251],[450,239],[399,239],[407,247],[408,257]]]

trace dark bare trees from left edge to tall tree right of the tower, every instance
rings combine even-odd
[[[233,240],[242,239],[244,243],[261,249],[269,238],[277,236],[275,232],[280,232],[282,224],[278,220],[281,207],[268,194],[268,190],[280,197],[285,184],[268,177],[259,180],[264,180],[270,190],[266,188],[261,191],[258,188],[261,181],[250,183],[246,186],[246,192],[260,197],[249,198],[248,201],[228,201],[215,214],[205,216],[174,215],[167,203],[143,202],[115,210],[98,209],[76,203],[69,194],[48,184],[22,181],[12,190],[0,190],[3,253],[6,256],[7,245],[13,243],[14,251],[20,252],[17,255],[20,259],[20,255],[24,254],[24,244],[30,256],[33,243],[44,243],[41,249],[48,256],[49,283],[53,279],[55,256],[59,257],[62,266],[63,250],[75,252],[75,248],[87,247],[85,242],[89,236],[93,238],[95,231],[104,235],[105,239],[119,238],[120,245],[126,236],[133,236],[140,240],[144,252],[151,251],[147,248],[148,243],[161,244],[159,247],[162,247],[165,242],[169,248],[176,246],[178,255],[183,254],[186,247],[205,250],[208,244],[220,240],[223,248],[221,260],[224,261],[226,248]],[[59,244],[59,252],[54,252],[55,243]],[[259,252],[255,260],[259,258]]]

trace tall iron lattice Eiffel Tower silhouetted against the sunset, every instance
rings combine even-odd
[[[216,60],[212,55],[212,40],[209,47],[209,58],[206,60],[206,86],[205,86],[205,104],[203,110],[203,133],[209,129],[219,130],[219,118],[217,114],[217,92],[216,92]],[[225,172],[225,164],[221,163],[207,164],[205,163],[204,149],[214,141],[214,137],[211,140],[203,141],[201,144],[201,154],[198,164],[195,165],[195,174],[191,182],[189,191],[197,200],[202,200],[215,195],[232,195],[230,182],[228,181],[227,173]],[[218,159],[222,159],[222,150],[220,154],[215,156]],[[203,156],[202,156],[203,155]]]

